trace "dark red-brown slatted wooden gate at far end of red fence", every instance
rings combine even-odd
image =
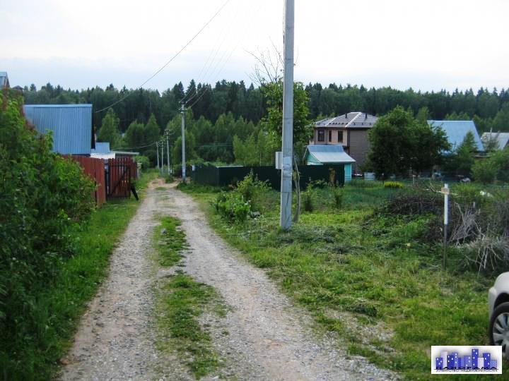
[[[136,179],[137,167],[131,157],[108,159],[107,197],[128,198],[131,194],[131,180]]]

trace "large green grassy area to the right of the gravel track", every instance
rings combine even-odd
[[[337,332],[349,353],[426,380],[431,345],[488,344],[494,276],[460,270],[459,253],[450,253],[443,272],[440,247],[421,239],[428,217],[374,215],[397,190],[354,183],[344,188],[339,209],[331,191],[317,190],[315,210],[286,232],[279,229],[276,191],[257,200],[262,217],[233,224],[210,206],[216,190],[181,188],[201,201],[226,241],[315,316],[319,329]]]

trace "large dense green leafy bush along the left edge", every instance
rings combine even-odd
[[[51,152],[51,135],[26,125],[22,100],[0,99],[0,369],[31,374],[31,346],[45,350],[47,311],[38,305],[74,253],[71,232],[93,210],[93,182]],[[40,348],[39,348],[40,347]]]

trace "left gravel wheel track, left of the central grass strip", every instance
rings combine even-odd
[[[153,185],[151,185],[153,188]],[[151,327],[151,234],[158,194],[148,191],[119,246],[110,274],[83,315],[62,380],[151,380],[158,360]]]

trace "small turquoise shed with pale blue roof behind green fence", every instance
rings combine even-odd
[[[342,145],[308,145],[305,150],[306,165],[344,164],[344,181],[351,181],[352,164],[356,161],[343,150]]]

